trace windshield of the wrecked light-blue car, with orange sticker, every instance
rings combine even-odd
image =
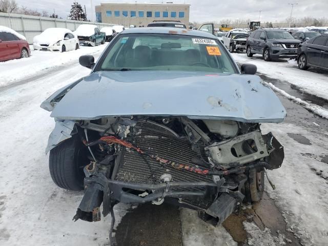
[[[126,34],[115,39],[96,70],[181,70],[238,73],[217,39]]]

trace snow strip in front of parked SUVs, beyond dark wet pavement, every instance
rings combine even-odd
[[[268,62],[264,61],[261,55],[254,55],[252,58],[247,57],[245,53],[232,53],[231,55],[237,63],[256,65],[259,73],[288,81],[305,92],[328,99],[328,73],[320,74],[310,70],[300,70],[295,61],[290,63],[285,60]]]

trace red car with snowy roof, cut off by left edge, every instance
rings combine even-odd
[[[29,57],[30,53],[29,44],[23,35],[0,26],[0,61]]]

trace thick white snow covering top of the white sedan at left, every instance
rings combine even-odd
[[[66,33],[72,33],[72,31],[66,28],[47,28],[43,33],[36,35],[33,38],[33,43],[53,45],[58,41],[63,40]]]

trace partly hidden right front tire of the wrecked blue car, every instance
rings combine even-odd
[[[250,169],[245,183],[245,195],[249,202],[261,200],[264,192],[264,170]]]

